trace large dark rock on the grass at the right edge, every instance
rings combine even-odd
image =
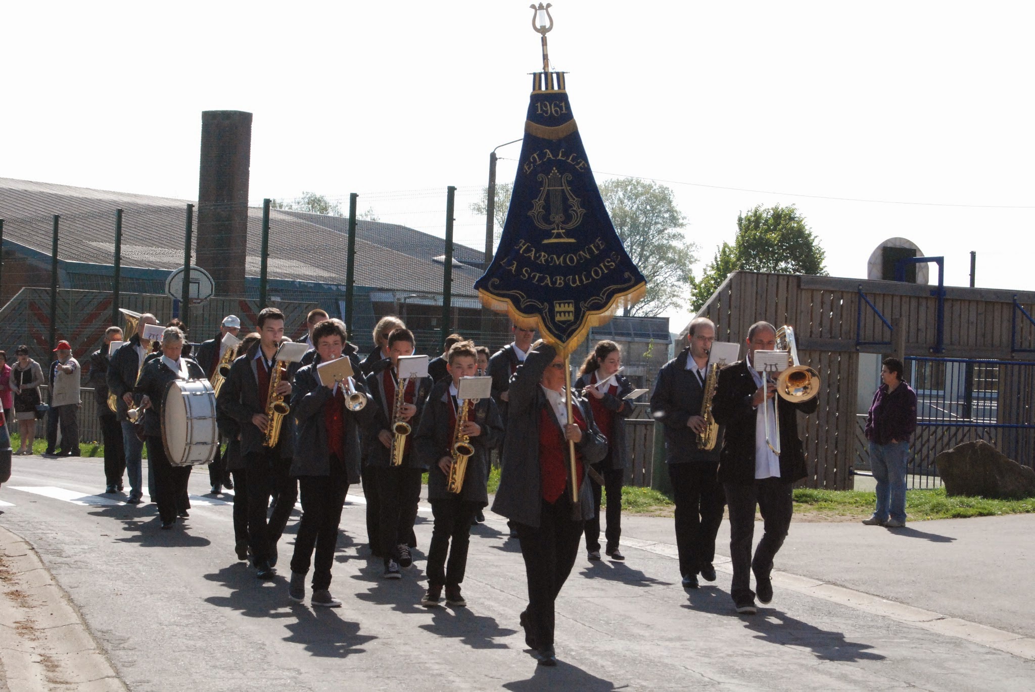
[[[935,457],[947,495],[995,500],[1035,498],[1035,471],[983,440],[965,442]]]

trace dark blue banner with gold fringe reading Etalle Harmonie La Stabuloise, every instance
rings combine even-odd
[[[646,292],[600,199],[561,72],[534,76],[503,236],[474,287],[486,307],[564,355]]]

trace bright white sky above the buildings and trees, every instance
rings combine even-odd
[[[597,180],[666,181],[703,260],[738,212],[794,204],[832,275],[864,277],[904,236],[945,255],[949,284],[977,250],[978,285],[1033,288],[1035,3],[551,11]],[[441,234],[444,188],[466,210],[489,152],[522,136],[531,16],[528,0],[3,3],[0,177],[194,199],[201,112],[242,110],[254,201],[356,191]],[[501,161],[499,180],[513,172]],[[461,215],[457,241],[479,246]],[[678,331],[687,315],[671,315]]]

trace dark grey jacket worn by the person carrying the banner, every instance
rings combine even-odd
[[[539,526],[542,509],[542,487],[539,478],[539,417],[543,410],[549,413],[553,424],[560,422],[551,408],[546,395],[539,386],[542,373],[553,362],[557,352],[549,344],[540,344],[529,353],[525,363],[510,379],[507,391],[510,401],[507,412],[507,435],[503,442],[503,473],[500,487],[496,491],[493,511],[529,526]],[[589,404],[575,397],[586,421],[587,432],[575,445],[582,454],[584,467],[596,463],[608,454],[608,441],[593,422],[593,411]],[[584,471],[579,484],[579,502],[583,519],[592,519],[594,514],[593,493],[590,489],[588,473]],[[566,489],[565,492],[570,492]]]

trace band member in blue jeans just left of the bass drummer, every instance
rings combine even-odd
[[[156,324],[158,321],[150,312],[140,315],[137,333],[119,347],[108,366],[108,390],[118,397],[117,415],[122,423],[122,449],[126,457],[126,478],[129,480],[129,499],[126,502],[130,505],[139,504],[144,497],[141,473],[144,442],[137,437],[126,412],[134,407],[132,390],[144,366],[144,358],[151,351],[150,340],[144,338],[144,328]]]

